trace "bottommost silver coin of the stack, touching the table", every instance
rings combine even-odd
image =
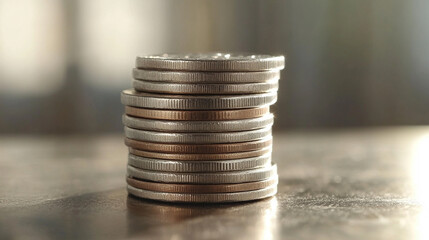
[[[277,193],[277,185],[253,191],[234,193],[167,193],[143,190],[127,185],[128,193],[152,200],[165,202],[243,202],[263,199]]]

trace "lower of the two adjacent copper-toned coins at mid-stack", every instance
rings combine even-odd
[[[271,152],[271,146],[262,148],[259,150],[249,151],[249,152],[237,152],[237,153],[160,153],[160,152],[148,152],[142,151],[134,148],[130,148],[130,153],[147,158],[156,158],[156,159],[168,159],[168,160],[177,160],[177,161],[210,161],[210,160],[231,160],[231,159],[240,159],[240,158],[250,158],[262,156],[266,153]]]

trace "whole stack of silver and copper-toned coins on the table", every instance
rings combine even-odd
[[[168,202],[239,202],[277,192],[273,115],[283,56],[154,55],[124,90],[127,189]]]

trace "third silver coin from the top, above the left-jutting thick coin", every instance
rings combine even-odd
[[[133,80],[133,87],[141,92],[169,94],[247,94],[277,91],[279,82],[267,81],[241,84],[183,84]]]

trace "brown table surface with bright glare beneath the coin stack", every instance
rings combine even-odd
[[[274,134],[276,197],[140,200],[122,135],[0,137],[0,239],[429,239],[429,127]]]

